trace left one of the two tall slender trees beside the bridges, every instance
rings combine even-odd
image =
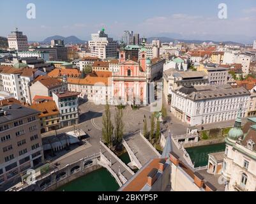
[[[110,109],[109,109],[108,103],[105,105],[105,113],[103,114],[102,124],[103,124],[103,128],[102,128],[103,140],[105,140],[105,143],[107,143],[107,145],[111,148],[114,127],[111,122],[111,115],[110,115]]]

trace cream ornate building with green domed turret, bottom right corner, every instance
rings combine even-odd
[[[225,139],[222,176],[225,191],[256,191],[256,118],[248,118],[243,130],[241,115]]]

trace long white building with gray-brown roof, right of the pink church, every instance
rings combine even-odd
[[[171,112],[190,126],[234,120],[242,108],[245,117],[250,97],[244,87],[230,85],[188,86],[172,91]]]

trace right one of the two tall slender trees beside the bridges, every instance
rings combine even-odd
[[[116,140],[116,150],[121,149],[123,136],[124,136],[124,123],[123,123],[123,110],[116,108],[116,115],[115,115],[115,140]]]

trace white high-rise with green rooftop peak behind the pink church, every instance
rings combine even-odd
[[[98,57],[99,59],[116,58],[117,42],[113,38],[109,38],[104,31],[105,29],[102,29],[96,34],[91,34],[91,41],[88,42],[91,49],[91,57]]]

